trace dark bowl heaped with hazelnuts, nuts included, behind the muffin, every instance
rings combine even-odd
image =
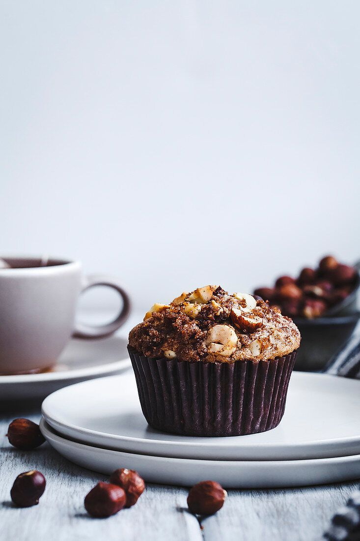
[[[344,265],[327,255],[317,268],[303,268],[297,278],[279,276],[274,287],[255,289],[254,295],[278,306],[298,327],[296,370],[322,370],[354,331],[360,317],[358,269],[358,263]]]

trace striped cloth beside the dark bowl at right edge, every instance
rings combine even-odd
[[[351,338],[341,351],[337,352],[323,372],[326,374],[341,375],[345,378],[360,379],[360,330],[356,327]]]

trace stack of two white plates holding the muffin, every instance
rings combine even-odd
[[[360,478],[360,381],[294,372],[276,428],[229,438],[176,436],[146,423],[132,372],[85,381],[43,402],[45,438],[101,473],[126,467],[146,481],[285,487]]]

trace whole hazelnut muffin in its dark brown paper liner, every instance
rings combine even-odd
[[[151,427],[239,436],[281,421],[299,344],[278,308],[205,286],[155,304],[130,332],[128,349]]]

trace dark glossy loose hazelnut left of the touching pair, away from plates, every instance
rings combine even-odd
[[[21,473],[12,485],[11,499],[19,507],[37,505],[44,493],[45,485],[46,481],[42,473],[35,470]]]

